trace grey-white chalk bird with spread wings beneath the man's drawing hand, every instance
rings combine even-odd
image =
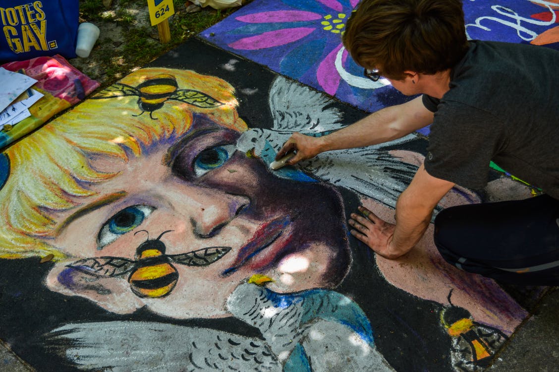
[[[274,81],[269,93],[272,129],[253,128],[245,131],[237,142],[243,152],[253,150],[270,163],[293,131],[321,136],[342,128],[342,113],[330,107],[324,95],[284,77]],[[395,208],[396,199],[409,185],[418,169],[415,164],[391,156],[388,149],[416,139],[414,134],[392,142],[367,148],[321,153],[297,164],[312,177],[342,186]],[[282,168],[280,176],[290,177],[290,169]]]

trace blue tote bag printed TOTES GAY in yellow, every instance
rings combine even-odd
[[[44,55],[76,56],[78,0],[2,0],[0,22],[0,64]]]

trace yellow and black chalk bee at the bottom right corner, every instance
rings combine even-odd
[[[483,371],[507,337],[497,328],[473,321],[468,310],[452,304],[451,295],[452,290],[448,294],[450,306],[440,313],[440,323],[452,338],[454,369],[463,372]]]

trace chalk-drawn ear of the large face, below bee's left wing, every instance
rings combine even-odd
[[[81,296],[116,314],[129,314],[144,306],[130,290],[126,276],[97,277],[68,267],[71,261],[56,262],[46,276],[51,291],[67,296]]]

